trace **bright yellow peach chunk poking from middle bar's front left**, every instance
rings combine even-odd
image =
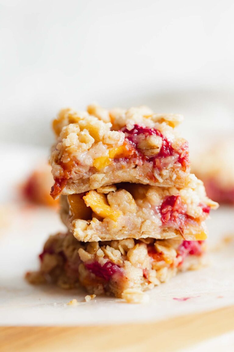
[[[118,210],[113,210],[109,206],[105,194],[98,193],[94,190],[89,191],[84,197],[83,200],[87,207],[91,207],[95,214],[98,214],[102,218],[110,218],[114,221],[117,221],[122,212]]]

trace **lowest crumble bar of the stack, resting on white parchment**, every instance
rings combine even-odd
[[[81,284],[91,294],[106,293],[131,302],[178,271],[197,269],[204,252],[204,241],[131,238],[84,243],[71,233],[58,233],[48,238],[39,255],[40,270],[27,272],[26,279],[62,288]]]

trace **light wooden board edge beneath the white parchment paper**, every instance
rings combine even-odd
[[[171,352],[233,330],[234,306],[230,306],[156,323],[90,327],[1,327],[0,351]]]

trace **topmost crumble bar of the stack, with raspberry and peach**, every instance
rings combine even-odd
[[[119,182],[193,187],[188,142],[175,130],[181,121],[181,115],[155,114],[145,106],[60,111],[53,121],[52,197]]]

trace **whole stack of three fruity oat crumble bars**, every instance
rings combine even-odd
[[[205,220],[218,204],[190,174],[181,121],[147,107],[59,113],[51,195],[60,197],[67,233],[49,237],[29,282],[82,285],[131,302],[201,265]]]

